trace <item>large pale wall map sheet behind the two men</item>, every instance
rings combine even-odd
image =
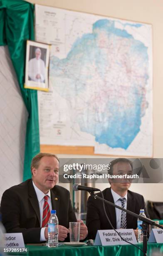
[[[40,143],[152,156],[151,25],[35,6],[36,41],[52,44],[38,92]]]

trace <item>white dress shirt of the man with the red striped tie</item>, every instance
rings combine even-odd
[[[45,194],[40,189],[38,189],[38,187],[36,187],[34,182],[33,182],[33,187],[35,189],[35,192],[36,192],[36,195],[37,195],[37,199],[38,199],[38,202],[39,202],[39,208],[40,208],[40,227],[42,227],[42,214],[43,214],[44,196],[45,196]],[[49,190],[49,192],[46,195],[48,196],[48,204],[49,204],[50,212],[51,212],[51,210],[52,210],[52,202],[51,202],[51,198],[50,198],[50,190]],[[44,236],[44,230],[45,230],[45,228],[41,228],[40,242],[46,240],[45,236]]]

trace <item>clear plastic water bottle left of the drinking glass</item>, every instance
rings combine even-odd
[[[58,218],[56,210],[51,210],[51,215],[48,223],[48,246],[58,246]]]

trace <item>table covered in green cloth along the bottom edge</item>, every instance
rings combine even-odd
[[[138,244],[143,249],[143,244]],[[57,248],[47,246],[27,246],[28,253],[21,256],[143,256],[143,253],[132,245],[118,246],[81,246],[72,247],[61,245]],[[153,254],[157,252],[157,254]],[[163,243],[148,244],[148,256],[163,255]]]

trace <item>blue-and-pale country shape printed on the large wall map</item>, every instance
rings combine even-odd
[[[140,131],[149,78],[148,48],[125,26],[133,24],[120,29],[113,20],[96,21],[65,59],[51,57],[49,73],[54,90],[67,100],[72,124],[100,144],[123,149]]]

